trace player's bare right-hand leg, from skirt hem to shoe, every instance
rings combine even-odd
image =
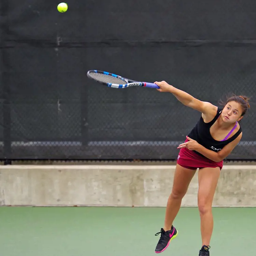
[[[202,245],[210,245],[213,231],[212,201],[214,198],[220,168],[202,168],[198,172],[198,209],[201,218]]]

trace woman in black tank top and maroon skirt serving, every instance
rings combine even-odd
[[[174,174],[173,187],[166,208],[165,223],[155,252],[161,253],[168,247],[178,231],[172,225],[181,207],[189,183],[197,168],[198,171],[198,209],[201,219],[202,247],[199,256],[209,256],[210,239],[213,231],[212,201],[219,174],[226,158],[242,138],[238,123],[250,108],[245,96],[232,96],[224,108],[209,102],[200,101],[185,91],[179,90],[165,81],[155,82],[160,92],[172,93],[181,103],[201,112],[196,126],[190,131],[180,149]]]

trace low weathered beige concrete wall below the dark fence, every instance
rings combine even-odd
[[[165,207],[172,165],[0,166],[0,205]],[[197,173],[182,206],[197,205]],[[256,166],[224,166],[214,206],[256,206]]]

